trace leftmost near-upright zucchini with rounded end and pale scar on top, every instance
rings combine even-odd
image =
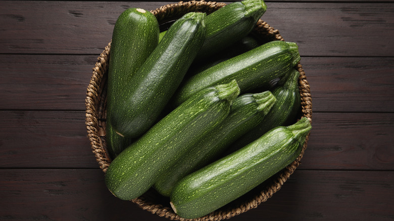
[[[135,72],[158,42],[159,23],[149,11],[129,8],[118,17],[112,34],[108,67],[107,119],[111,122],[123,118],[124,112],[118,106],[126,102]],[[112,134],[114,128],[107,129],[107,134]]]

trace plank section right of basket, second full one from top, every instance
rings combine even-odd
[[[394,112],[393,58],[301,58],[301,64],[313,111]]]

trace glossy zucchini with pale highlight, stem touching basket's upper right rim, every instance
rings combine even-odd
[[[286,75],[299,61],[297,44],[285,41],[265,43],[185,80],[174,95],[173,105],[179,105],[205,87],[234,79],[242,93],[249,92]]]

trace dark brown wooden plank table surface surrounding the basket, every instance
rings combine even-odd
[[[169,3],[0,1],[0,220],[166,220],[106,188],[85,95],[120,13]],[[394,219],[394,2],[266,4],[299,45],[313,129],[283,187],[231,220]]]

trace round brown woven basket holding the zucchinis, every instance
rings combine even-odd
[[[224,3],[205,2],[205,1],[190,1],[179,2],[177,4],[170,4],[162,6],[159,9],[151,11],[159,21],[159,24],[164,24],[169,21],[180,18],[188,12],[205,12],[207,14],[218,10],[225,6]],[[263,41],[283,40],[278,30],[274,30],[266,22],[259,20],[253,33]],[[105,128],[106,128],[106,81],[107,70],[109,64],[109,53],[111,42],[105,47],[103,53],[98,57],[98,61],[93,68],[93,74],[90,83],[87,87],[86,96],[86,128],[87,136],[90,140],[92,151],[96,157],[98,165],[103,170],[107,171],[111,163],[111,158],[107,154]],[[299,90],[301,94],[301,117],[307,117],[312,121],[312,100],[310,88],[305,76],[305,72],[299,63],[295,67],[300,72]],[[234,200],[233,202],[223,206],[222,208],[201,218],[190,220],[221,220],[230,218],[237,214],[248,211],[257,207],[261,202],[265,202],[276,191],[280,189],[284,182],[294,172],[300,164],[300,160],[307,147],[309,135],[306,138],[301,154],[290,165],[288,165],[281,172],[277,173],[263,184],[259,185],[244,196]],[[164,216],[174,220],[186,220],[179,217],[170,207],[169,199],[161,196],[152,188],[144,193],[142,196],[131,200],[142,209],[151,211],[159,216]]]

